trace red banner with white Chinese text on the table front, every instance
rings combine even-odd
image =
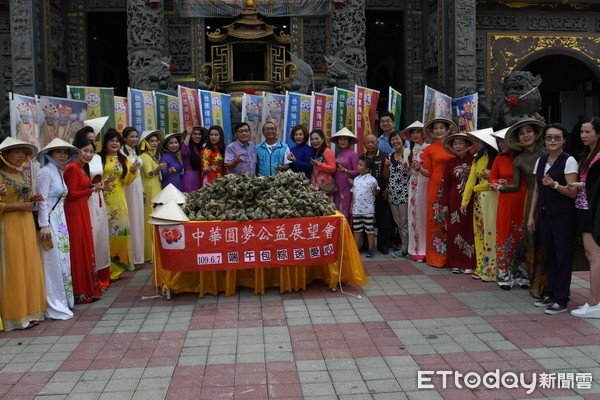
[[[336,262],[341,218],[188,222],[154,229],[166,270],[272,268]]]

